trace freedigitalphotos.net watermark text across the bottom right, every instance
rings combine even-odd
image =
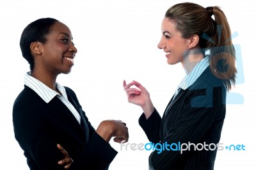
[[[223,143],[211,143],[211,144],[207,144],[207,143],[171,143],[168,144],[167,142],[164,143],[124,143],[124,141],[122,141],[120,143],[120,150],[123,151],[127,151],[127,150],[132,150],[132,151],[136,151],[136,150],[147,150],[147,151],[157,151],[157,153],[161,153],[162,151],[179,151],[180,154],[182,154],[184,151],[202,151],[202,150],[206,150],[206,151],[214,151],[214,150],[229,150],[229,151],[244,151],[245,150],[245,145],[244,144],[230,144],[230,145],[226,145],[224,146]]]

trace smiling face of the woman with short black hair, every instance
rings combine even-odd
[[[56,22],[51,26],[46,39],[45,43],[38,42],[39,55],[35,57],[35,68],[53,75],[69,73],[77,53],[70,29],[65,24]]]

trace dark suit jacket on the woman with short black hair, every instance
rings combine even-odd
[[[15,138],[31,170],[64,169],[58,165],[61,144],[74,160],[72,169],[108,169],[117,152],[92,127],[76,94],[67,88],[68,100],[81,116],[79,125],[72,112],[54,97],[46,104],[35,91],[25,86],[13,105]]]

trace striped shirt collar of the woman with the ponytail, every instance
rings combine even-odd
[[[180,88],[185,90],[189,86],[191,86],[208,66],[209,66],[209,55],[206,56],[204,59],[202,59],[199,63],[197,63],[196,66],[193,68],[193,70],[182,79],[178,88],[175,91],[173,99],[179,93]]]

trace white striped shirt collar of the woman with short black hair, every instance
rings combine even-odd
[[[38,79],[32,77],[30,72],[27,72],[25,74],[24,84],[29,88],[33,89],[33,91],[35,91],[36,94],[38,94],[47,104],[52,100],[52,98],[57,96],[61,100],[61,102],[63,102],[63,104],[67,106],[70,112],[74,114],[76,120],[80,124],[80,114],[77,112],[75,107],[68,101],[66,90],[63,86],[61,86],[61,84],[56,82],[56,88],[60,91],[62,95],[46,86],[43,82],[40,82],[38,81]]]

